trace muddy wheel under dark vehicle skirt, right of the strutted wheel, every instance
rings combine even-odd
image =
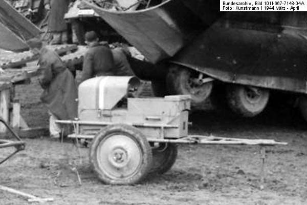
[[[227,103],[234,113],[243,117],[253,117],[266,108],[270,92],[256,87],[229,85],[226,95]]]

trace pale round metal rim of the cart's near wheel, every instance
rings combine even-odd
[[[142,150],[129,135],[112,134],[97,148],[97,162],[109,178],[133,176],[142,164]]]

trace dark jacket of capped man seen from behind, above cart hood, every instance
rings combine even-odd
[[[114,75],[114,59],[111,49],[99,43],[86,51],[83,59],[81,82],[101,75]]]

